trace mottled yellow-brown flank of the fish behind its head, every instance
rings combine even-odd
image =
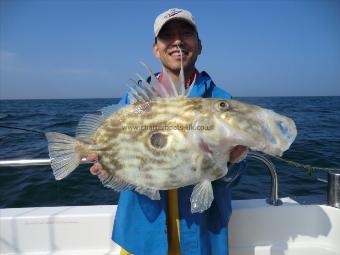
[[[207,112],[206,100],[155,99],[125,106],[112,114],[93,138],[96,145],[106,148],[97,152],[103,168],[140,187],[162,190],[197,183],[200,173],[195,162],[201,151],[192,145],[188,139],[191,130],[185,127]],[[163,139],[155,147],[152,137],[159,134]],[[223,175],[224,170],[206,164],[216,178]]]

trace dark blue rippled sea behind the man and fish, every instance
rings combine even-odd
[[[340,168],[340,97],[238,98],[293,118],[298,136],[284,158],[303,164]],[[75,134],[86,113],[116,103],[115,99],[1,100],[0,125],[43,132]],[[32,132],[0,128],[0,160],[47,158],[45,137]],[[321,195],[325,172],[307,175],[273,160],[279,175],[280,196]],[[62,181],[55,181],[48,166],[0,168],[0,207],[116,204],[118,194],[102,187],[83,165]],[[249,161],[246,175],[233,189],[234,199],[264,198],[270,192],[267,171]]]

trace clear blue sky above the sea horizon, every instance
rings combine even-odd
[[[195,16],[199,70],[234,96],[340,96],[340,1],[0,0],[0,99],[120,97],[153,22]]]

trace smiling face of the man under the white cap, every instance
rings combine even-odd
[[[191,71],[201,53],[201,41],[195,28],[180,19],[166,23],[153,46],[156,58],[171,72],[179,72],[181,68],[181,55],[177,45],[182,50],[184,71]]]

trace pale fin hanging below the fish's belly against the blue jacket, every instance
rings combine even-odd
[[[191,194],[191,212],[202,213],[211,206],[213,200],[214,193],[211,182],[209,180],[203,180],[202,182],[196,184]]]

